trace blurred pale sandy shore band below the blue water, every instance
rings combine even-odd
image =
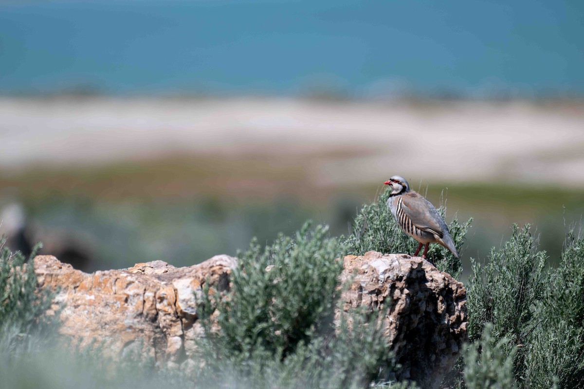
[[[537,181],[584,187],[584,107],[289,99],[0,99],[0,169],[169,152],[315,158],[314,180]],[[359,150],[343,156],[347,150]],[[347,153],[351,154],[351,153]],[[356,154],[356,155],[355,155]]]

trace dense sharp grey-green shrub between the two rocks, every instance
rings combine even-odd
[[[215,337],[234,358],[247,360],[262,350],[283,359],[300,342],[329,330],[343,268],[336,258],[343,247],[328,237],[327,227],[310,227],[306,223],[294,238],[280,235],[264,250],[252,242],[239,254],[228,298],[204,302],[207,307],[217,304],[222,330],[220,337],[207,337]],[[272,268],[266,271],[268,266]]]

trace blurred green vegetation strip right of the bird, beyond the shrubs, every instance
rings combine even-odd
[[[447,189],[446,189],[447,188]],[[569,226],[582,225],[584,215],[584,190],[581,188],[554,188],[545,185],[473,183],[433,185],[427,197],[439,204],[446,200],[447,220],[456,212],[459,219],[473,218],[472,229],[467,234],[463,251],[465,268],[468,258],[486,258],[491,247],[499,247],[509,240],[513,223],[533,225],[541,234],[540,248],[551,257],[558,258]]]

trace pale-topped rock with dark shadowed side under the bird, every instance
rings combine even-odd
[[[402,365],[398,379],[422,388],[440,384],[467,340],[466,291],[430,262],[406,254],[347,255],[345,309],[389,305],[387,337]]]

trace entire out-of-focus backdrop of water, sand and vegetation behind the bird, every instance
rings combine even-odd
[[[584,213],[580,1],[2,1],[0,233],[85,271],[191,265],[394,174],[463,261]]]

